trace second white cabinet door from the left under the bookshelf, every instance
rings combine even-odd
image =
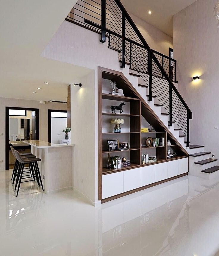
[[[123,171],[124,192],[141,187],[141,168]]]

